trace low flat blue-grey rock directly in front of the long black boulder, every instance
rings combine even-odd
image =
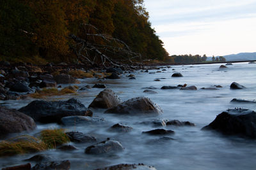
[[[104,122],[103,118],[99,117],[63,117],[61,118],[61,123],[67,126],[76,126],[76,125],[99,125]]]

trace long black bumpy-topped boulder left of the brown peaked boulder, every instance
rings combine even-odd
[[[68,101],[32,101],[19,111],[41,123],[60,123],[63,117],[92,115],[91,110],[74,98]]]

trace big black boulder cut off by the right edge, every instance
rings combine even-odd
[[[247,109],[223,111],[202,130],[215,130],[225,135],[256,138],[256,112]]]

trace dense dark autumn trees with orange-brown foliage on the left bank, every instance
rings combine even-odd
[[[143,0],[0,1],[0,57],[40,56],[51,62],[73,62],[77,59],[74,46],[79,45],[74,39],[78,38],[93,46],[79,48],[90,55],[94,46],[101,55],[111,50],[114,55],[116,49],[129,46],[125,49],[140,53],[135,60],[168,59]]]

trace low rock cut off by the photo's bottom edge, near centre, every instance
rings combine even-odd
[[[94,170],[132,170],[132,169],[141,169],[141,170],[156,170],[153,166],[146,166],[144,164],[118,164],[115,166],[109,166]]]

